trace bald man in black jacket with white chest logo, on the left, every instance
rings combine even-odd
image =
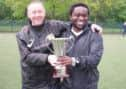
[[[40,1],[31,2],[27,7],[29,24],[16,34],[21,57],[22,89],[49,89],[56,83],[52,81],[54,68],[50,58],[53,48],[46,37],[50,33],[60,37],[66,31],[66,25],[60,21],[47,21],[45,16],[43,4]]]

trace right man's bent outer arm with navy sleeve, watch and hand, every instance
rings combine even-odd
[[[78,56],[78,57],[60,57],[59,61],[63,65],[73,65],[73,67],[78,67],[80,69],[84,68],[95,68],[101,60],[103,53],[103,40],[101,35],[97,33],[92,34],[90,41],[90,51],[87,56]],[[76,62],[76,64],[75,64]]]

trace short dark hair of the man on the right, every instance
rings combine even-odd
[[[76,3],[76,4],[73,4],[73,5],[70,7],[69,15],[72,15],[74,9],[75,9],[76,7],[79,7],[79,6],[82,6],[82,7],[84,7],[84,8],[87,8],[87,10],[88,10],[88,15],[90,14],[88,5],[86,5],[86,4],[84,4],[84,3]]]

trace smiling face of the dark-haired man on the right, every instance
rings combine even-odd
[[[82,29],[88,21],[88,9],[82,6],[75,7],[70,20],[74,27]]]

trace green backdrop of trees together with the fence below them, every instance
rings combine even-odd
[[[0,32],[18,31],[27,23],[25,8],[32,0],[0,0]],[[69,20],[72,4],[83,2],[90,8],[90,21],[97,23],[107,33],[120,33],[126,21],[126,0],[41,0],[47,19]],[[107,29],[106,29],[107,28]],[[110,30],[109,30],[109,29]]]

